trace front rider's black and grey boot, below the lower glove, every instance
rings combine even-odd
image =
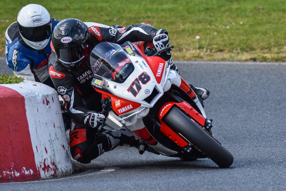
[[[104,131],[103,134],[106,135],[109,140],[109,150],[114,149],[118,145],[122,146],[124,144],[127,144],[131,147],[136,147],[137,149],[140,149],[139,153],[142,154],[147,148],[147,145],[143,141],[134,137],[134,135],[125,127]]]

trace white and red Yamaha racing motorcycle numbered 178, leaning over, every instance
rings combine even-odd
[[[102,93],[105,129],[126,127],[150,151],[181,160],[209,158],[221,168],[233,163],[232,154],[212,136],[212,120],[194,91],[148,47],[144,55],[127,41],[102,42],[94,47],[91,84]]]

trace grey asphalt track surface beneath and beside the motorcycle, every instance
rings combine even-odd
[[[230,168],[121,146],[90,164],[73,161],[78,174],[1,183],[0,190],[285,190],[286,64],[176,63],[187,82],[209,88],[205,110],[214,136],[234,156]],[[7,72],[3,57],[0,67]]]

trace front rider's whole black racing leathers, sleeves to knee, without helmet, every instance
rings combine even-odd
[[[120,27],[114,25],[110,28],[92,26],[89,27],[91,37],[90,52],[100,42],[114,42],[122,44],[130,42],[150,42],[153,37],[167,33],[165,30],[157,30],[148,24],[130,25]],[[55,52],[49,58],[49,76],[57,92],[67,103],[67,110],[74,121],[70,128],[70,151],[72,157],[82,163],[89,163],[106,151],[110,151],[119,144],[134,145],[131,133],[124,129],[96,133],[95,128],[84,125],[84,116],[88,111],[102,111],[101,94],[91,86],[93,72],[90,61],[78,70],[68,70],[59,62]],[[134,139],[134,137],[133,137]]]

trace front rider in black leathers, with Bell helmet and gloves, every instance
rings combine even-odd
[[[160,36],[164,34],[165,36]],[[91,86],[93,72],[89,55],[100,42],[122,44],[130,42],[153,42],[168,46],[167,31],[141,23],[120,27],[87,27],[78,19],[65,19],[59,22],[53,32],[54,51],[49,58],[49,76],[59,94],[67,103],[73,123],[70,128],[70,151],[72,157],[82,163],[89,163],[105,151],[110,151],[124,143],[139,147],[142,141],[130,131],[120,128],[97,133],[105,119],[102,111],[101,94]],[[156,36],[159,36],[158,38]],[[154,38],[155,37],[155,38]],[[165,42],[167,40],[167,42]],[[156,43],[155,43],[156,44]],[[164,54],[163,54],[164,55]],[[166,59],[170,52],[166,52]],[[175,67],[175,64],[174,64]]]

